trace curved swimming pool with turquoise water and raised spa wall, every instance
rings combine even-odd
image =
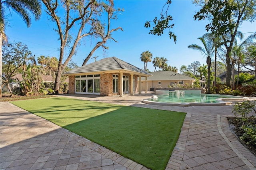
[[[178,90],[178,91],[158,91],[150,99],[144,100],[144,103],[162,106],[223,106],[230,105],[232,101],[248,100],[247,97],[201,94],[198,90]]]

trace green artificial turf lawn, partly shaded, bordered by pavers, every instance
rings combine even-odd
[[[165,169],[186,113],[64,97],[12,101],[150,169]]]

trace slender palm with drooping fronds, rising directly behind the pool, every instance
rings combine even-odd
[[[206,33],[207,34],[207,33]],[[211,63],[212,63],[212,55],[214,54],[215,44],[214,41],[211,38],[208,38],[204,34],[202,37],[198,38],[203,43],[203,47],[197,45],[197,44],[191,44],[188,45],[188,48],[195,49],[200,51],[204,56],[206,56],[206,63],[208,65],[208,79],[207,79],[207,93],[211,93]]]

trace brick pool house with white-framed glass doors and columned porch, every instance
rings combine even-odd
[[[69,76],[69,94],[123,96],[124,93],[141,93],[141,78],[144,77],[146,83],[150,73],[116,57],[108,57],[64,75]]]

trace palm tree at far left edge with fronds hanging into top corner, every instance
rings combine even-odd
[[[2,63],[2,43],[7,43],[5,11],[10,8],[20,15],[27,27],[31,25],[30,13],[36,20],[41,16],[41,2],[38,0],[0,0],[0,63]],[[2,64],[0,65],[0,97],[2,97]]]

